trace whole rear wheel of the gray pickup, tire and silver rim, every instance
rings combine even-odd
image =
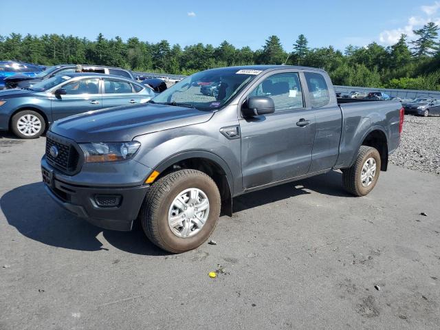
[[[371,146],[361,146],[355,164],[342,170],[345,190],[355,196],[369,194],[379,179],[380,166],[379,151]]]

